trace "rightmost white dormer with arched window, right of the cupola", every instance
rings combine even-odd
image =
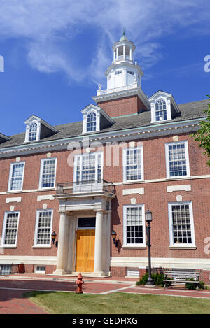
[[[170,121],[181,115],[172,94],[158,91],[148,99],[151,103],[151,123]]]

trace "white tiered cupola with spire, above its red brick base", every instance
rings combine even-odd
[[[123,36],[113,47],[113,62],[108,67],[105,75],[107,78],[107,93],[115,88],[125,89],[141,87],[141,67],[134,62],[136,49],[132,41],[128,41],[123,31]],[[111,91],[113,92],[113,91]]]

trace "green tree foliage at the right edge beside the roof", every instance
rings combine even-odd
[[[207,97],[210,99],[210,96]],[[205,150],[204,154],[210,157],[210,104],[209,109],[204,110],[204,112],[208,114],[207,120],[200,122],[200,129],[192,136],[199,144],[199,147]],[[210,159],[207,164],[210,166]]]

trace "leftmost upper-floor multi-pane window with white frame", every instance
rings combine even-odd
[[[8,191],[22,190],[24,167],[25,162],[11,164]]]

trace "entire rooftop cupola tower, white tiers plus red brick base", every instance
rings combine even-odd
[[[131,99],[131,97],[138,97],[140,101],[138,100],[137,106],[134,106],[133,113],[139,113],[143,109],[148,110],[150,108],[148,97],[141,89],[141,78],[144,72],[141,71],[141,67],[134,59],[135,49],[136,46],[132,41],[127,40],[125,31],[123,31],[123,36],[112,47],[113,62],[105,72],[107,87],[102,89],[101,85],[99,85],[97,95],[92,97],[97,105],[102,107],[111,117],[118,116],[118,113],[126,115],[127,108],[125,104],[120,105],[119,103],[120,111],[113,113],[109,108],[105,109],[105,107],[111,106],[111,104],[106,106],[106,101],[114,101],[116,99],[120,101],[120,99],[125,97],[130,97],[130,101],[133,101],[134,98]],[[125,108],[123,107],[124,109],[122,109],[122,106]]]

